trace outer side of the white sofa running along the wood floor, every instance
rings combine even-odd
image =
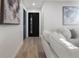
[[[43,46],[43,50],[45,51],[45,54],[47,58],[57,58],[58,56],[54,53],[54,51],[51,49],[50,45],[48,42],[45,40],[43,35],[41,36],[41,42]]]

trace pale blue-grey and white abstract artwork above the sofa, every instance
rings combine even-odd
[[[79,6],[64,6],[64,25],[79,24]]]

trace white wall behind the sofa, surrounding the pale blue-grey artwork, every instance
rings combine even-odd
[[[79,6],[79,2],[65,1],[65,2],[47,2],[42,8],[42,25],[43,30],[52,30],[63,25],[63,6]],[[67,26],[69,28],[79,27],[79,25]]]

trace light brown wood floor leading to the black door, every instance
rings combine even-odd
[[[24,40],[22,48],[16,58],[46,58],[40,38],[28,38]]]

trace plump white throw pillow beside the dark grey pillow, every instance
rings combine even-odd
[[[68,28],[59,28],[57,29],[58,33],[61,33],[62,35],[64,35],[66,37],[66,39],[70,39],[71,38],[71,32]]]

